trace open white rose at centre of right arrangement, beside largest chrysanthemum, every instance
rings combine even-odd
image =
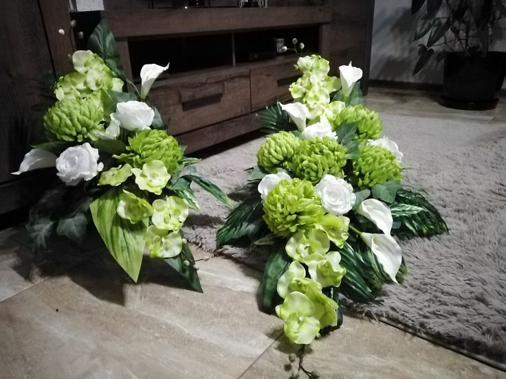
[[[314,187],[314,192],[320,196],[325,210],[337,216],[347,214],[355,204],[356,196],[351,184],[333,175],[323,176]]]

